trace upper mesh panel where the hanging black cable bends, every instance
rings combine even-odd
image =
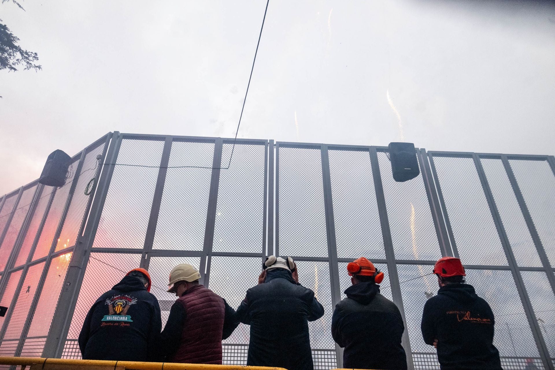
[[[223,146],[223,166],[232,147]],[[265,152],[265,145],[235,145],[231,166],[220,170],[213,251],[263,252]]]

